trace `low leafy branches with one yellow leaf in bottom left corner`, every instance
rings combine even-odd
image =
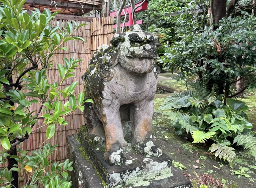
[[[18,149],[17,155],[12,155],[11,158],[15,158],[18,162],[18,165],[11,168],[9,171],[7,168],[0,169],[0,184],[7,184],[8,187],[12,187],[12,172],[20,172],[20,180],[25,180],[24,172],[27,171],[31,173],[30,178],[25,181],[25,186],[23,188],[36,188],[36,183],[41,183],[44,187],[59,187],[59,188],[67,188],[71,187],[71,176],[68,175],[68,171],[72,171],[71,167],[73,162],[69,162],[69,159],[65,160],[64,163],[54,162],[48,160],[50,154],[56,150],[57,145],[50,146],[50,144],[46,144],[43,146],[43,149],[38,149],[38,152],[33,151],[33,156],[26,155],[26,151],[22,150],[22,148]],[[1,152],[1,156],[8,157],[9,155],[4,151]],[[6,160],[1,160],[1,164],[6,163]],[[46,172],[46,168],[50,167],[50,171]],[[24,171],[25,170],[25,171]],[[53,186],[54,185],[54,186]]]

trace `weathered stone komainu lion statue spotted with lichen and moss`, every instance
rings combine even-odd
[[[158,38],[143,31],[139,25],[103,45],[93,55],[89,68],[83,75],[85,98],[84,119],[90,134],[106,140],[105,160],[113,165],[115,160],[126,158],[123,147],[122,123],[131,122],[131,145],[147,156],[161,156],[161,149],[151,139],[153,98],[157,88],[155,66]]]

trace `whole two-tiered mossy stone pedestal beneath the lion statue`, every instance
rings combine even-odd
[[[79,136],[67,137],[68,158],[74,162],[71,174],[74,188],[191,187],[189,179],[171,167],[172,161],[164,153],[161,157],[148,158],[128,146],[127,161],[110,166],[103,159],[102,138],[91,138],[81,130]]]

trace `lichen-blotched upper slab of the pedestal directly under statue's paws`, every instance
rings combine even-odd
[[[85,128],[82,126],[79,130],[79,140],[103,180],[105,180],[106,184],[110,187],[121,184],[135,184],[137,183],[136,181],[142,180],[149,181],[155,179],[161,172],[168,173],[168,171],[170,171],[172,160],[166,154],[162,154],[160,157],[148,158],[142,154],[136,153],[131,148],[131,144],[123,148],[123,152],[127,157],[125,163],[119,166],[111,166],[103,158],[104,143],[97,141],[98,139],[95,138],[98,137],[93,138],[93,135],[89,135],[84,129]],[[147,146],[152,147],[153,142],[150,141]],[[120,153],[116,152],[115,156],[110,157],[110,160],[113,160],[110,162],[117,162],[116,158],[121,157],[119,154]],[[171,174],[169,174],[169,176],[170,175]],[[135,180],[135,182],[133,180]]]

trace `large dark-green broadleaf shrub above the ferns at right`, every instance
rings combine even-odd
[[[166,70],[181,70],[179,80],[196,75],[194,82],[207,86],[207,91],[215,88],[217,94],[223,94],[226,104],[227,98],[240,94],[234,87],[240,77],[246,78],[242,91],[256,86],[255,19],[241,12],[241,16],[223,18],[216,30],[207,24],[197,27],[198,23],[179,27],[180,40],[166,48],[159,62]],[[198,21],[181,16],[177,24],[182,26],[191,20]]]

